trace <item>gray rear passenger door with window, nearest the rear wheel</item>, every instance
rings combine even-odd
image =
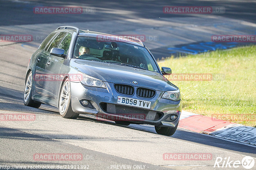
[[[44,85],[44,69],[47,63],[47,60],[49,59],[50,55],[49,53],[46,53],[44,51],[45,47],[48,46],[52,42],[52,39],[56,36],[56,33],[50,34],[42,44],[39,46],[39,50],[42,50],[42,52],[36,56],[36,66],[34,71],[34,82],[35,82],[35,92],[42,94],[43,85]]]

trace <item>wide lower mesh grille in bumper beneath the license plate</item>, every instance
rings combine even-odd
[[[101,108],[106,113],[127,117],[127,120],[131,121],[133,119],[157,121],[163,115],[163,113],[154,110],[147,110],[120,104],[101,103]]]

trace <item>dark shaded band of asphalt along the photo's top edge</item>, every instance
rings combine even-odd
[[[36,6],[81,6],[82,8],[95,9],[95,12],[85,14],[55,14],[49,15],[34,14],[33,8]],[[0,25],[25,25],[44,24],[61,22],[88,22],[125,20],[130,18],[171,18],[171,17],[191,17],[193,14],[164,14],[164,6],[217,6],[225,7],[225,13],[214,14],[227,18],[235,18],[255,23],[255,2],[243,1],[202,1],[202,0],[162,0],[162,1],[124,1],[119,0],[101,1],[89,0],[81,3],[74,1],[38,1],[29,3],[19,3],[18,1],[1,1],[0,4]],[[129,8],[127,8],[129,7]],[[10,9],[15,9],[10,12]],[[22,12],[20,12],[22,11]],[[200,16],[202,16],[201,14]],[[209,15],[209,14],[205,14]],[[99,17],[100,16],[100,17]],[[96,30],[97,31],[97,30]]]

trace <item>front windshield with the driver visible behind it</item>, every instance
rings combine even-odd
[[[79,36],[73,58],[107,62],[158,72],[156,63],[145,47],[118,41]]]

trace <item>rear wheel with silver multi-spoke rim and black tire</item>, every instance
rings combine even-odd
[[[28,74],[28,77],[26,79],[26,83],[25,83],[23,102],[24,102],[25,106],[39,108],[42,103],[32,100],[32,97],[31,97],[32,96],[32,93],[31,93],[32,87],[33,87],[33,74],[30,71]]]

